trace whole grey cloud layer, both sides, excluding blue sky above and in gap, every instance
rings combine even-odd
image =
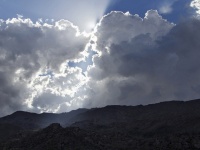
[[[90,36],[65,20],[2,20],[0,115],[199,98],[199,27],[197,19],[171,24],[153,10],[144,18],[111,12]],[[97,54],[85,74],[68,65],[91,48]]]

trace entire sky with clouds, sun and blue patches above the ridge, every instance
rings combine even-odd
[[[0,116],[200,98],[200,0],[1,0]]]

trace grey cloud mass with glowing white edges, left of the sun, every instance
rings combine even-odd
[[[62,93],[58,92],[59,85],[51,90],[53,82],[61,77],[62,80],[70,81],[71,78],[68,76],[73,72],[76,72],[76,76],[81,74],[81,71],[76,71],[77,69],[67,69],[67,61],[84,59],[82,52],[88,40],[89,37],[81,34],[76,26],[66,20],[54,24],[33,23],[30,19],[21,17],[1,20],[0,114],[8,114],[19,109],[31,110],[39,103],[41,108],[45,100],[39,101],[40,95],[50,97],[44,96],[43,93],[46,91],[50,91],[51,95],[61,95]],[[74,76],[73,82],[75,79]],[[77,86],[75,82],[70,86],[72,90],[73,86]],[[61,96],[67,97],[67,94]],[[54,98],[55,103],[59,103],[59,98]],[[51,102],[46,105],[53,107],[53,104]]]

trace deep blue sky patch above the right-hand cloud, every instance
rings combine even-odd
[[[164,5],[170,5],[170,12],[163,13],[160,11],[159,13],[164,19],[177,23],[191,15],[190,2],[191,0],[117,0],[116,3],[113,3],[107,8],[106,13],[113,10],[122,12],[129,11],[131,14],[138,14],[140,17],[144,17],[145,13],[150,9],[158,10],[159,12]]]

